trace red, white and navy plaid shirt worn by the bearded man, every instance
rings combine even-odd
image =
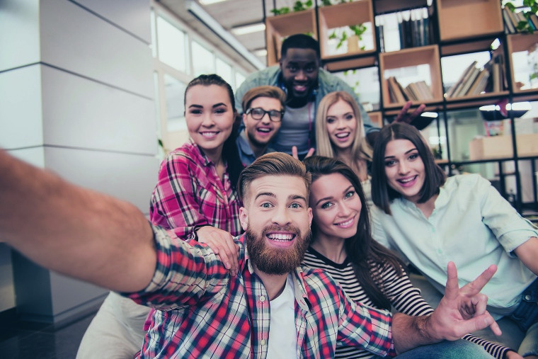
[[[173,233],[159,227],[154,237],[154,278],[128,295],[159,309],[141,358],[266,358],[268,294],[241,239],[241,270],[231,276],[204,244],[173,241]],[[297,268],[293,282],[297,358],[333,358],[337,345],[396,355],[389,312],[355,304],[322,270]]]

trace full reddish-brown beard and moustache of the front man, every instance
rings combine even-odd
[[[294,233],[294,244],[288,248],[277,248],[270,246],[265,234],[268,232],[289,232]],[[248,249],[248,257],[252,263],[263,273],[272,275],[282,275],[292,272],[301,264],[304,252],[310,244],[311,231],[304,237],[297,227],[285,226],[270,226],[265,227],[258,237],[250,228],[246,229],[246,248]]]

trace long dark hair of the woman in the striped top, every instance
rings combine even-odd
[[[379,273],[379,267],[384,267],[388,264],[396,270],[398,275],[402,275],[404,274],[403,268],[405,266],[396,254],[372,239],[368,207],[359,178],[348,165],[339,159],[311,156],[304,159],[303,162],[307,166],[307,171],[311,173],[312,183],[321,176],[340,173],[355,188],[362,207],[360,209],[359,222],[357,223],[357,233],[355,236],[345,239],[345,253],[347,253],[353,266],[357,280],[362,285],[368,297],[370,297],[377,307],[390,310],[391,302],[384,295],[383,280]],[[314,226],[312,226],[313,239],[316,238],[317,232],[315,224],[314,221]]]

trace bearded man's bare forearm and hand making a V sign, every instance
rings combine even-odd
[[[392,337],[396,352],[403,353],[443,339],[454,341],[486,326],[500,335],[498,325],[486,311],[487,297],[480,293],[496,270],[496,266],[490,266],[474,281],[459,288],[456,266],[448,263],[445,296],[433,314],[422,317],[394,314]]]

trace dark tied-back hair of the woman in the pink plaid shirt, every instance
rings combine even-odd
[[[189,91],[189,89],[193,86],[198,85],[217,85],[224,87],[224,89],[228,91],[231,108],[232,110],[234,110],[234,125],[231,129],[231,134],[226,139],[226,141],[224,141],[224,145],[222,146],[222,158],[226,160],[227,172],[230,179],[231,187],[235,190],[237,186],[237,180],[239,179],[239,173],[241,173],[244,166],[239,157],[239,150],[237,149],[236,145],[236,138],[238,136],[237,129],[239,128],[240,121],[239,116],[236,115],[234,90],[232,90],[231,86],[226,81],[224,81],[221,76],[217,74],[200,75],[188,83],[187,88],[185,89],[185,96],[183,96],[183,103],[187,103],[187,92]]]

